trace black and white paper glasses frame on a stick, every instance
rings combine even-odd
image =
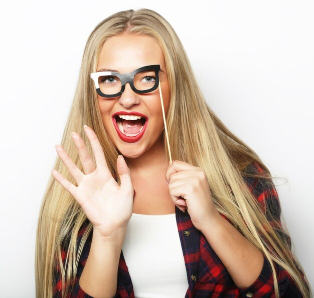
[[[143,71],[149,71],[149,70],[152,70],[155,72],[155,84],[154,84],[154,86],[150,89],[147,89],[147,90],[136,89],[134,84],[133,84],[133,80],[134,80],[135,75],[137,73],[140,73]],[[136,69],[136,70],[134,70],[128,74],[120,74],[117,72],[97,72],[97,73],[91,73],[90,76],[95,83],[97,94],[102,96],[102,97],[112,98],[112,97],[117,97],[124,92],[126,83],[130,84],[132,90],[135,93],[142,94],[142,93],[149,93],[151,91],[156,90],[159,86],[159,71],[160,70],[161,70],[161,66],[159,64],[156,64],[156,65],[147,65],[147,66],[140,67],[140,68],[138,68],[138,69]],[[114,76],[114,77],[119,78],[119,80],[121,81],[121,90],[115,94],[104,94],[104,93],[102,93],[100,88],[99,88],[99,82],[98,82],[98,78],[101,76]]]

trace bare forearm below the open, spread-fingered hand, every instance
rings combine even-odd
[[[95,298],[113,297],[117,289],[117,272],[125,229],[112,237],[95,232],[89,255],[80,277],[80,287]]]

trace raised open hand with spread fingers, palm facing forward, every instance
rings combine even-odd
[[[121,183],[118,185],[108,169],[96,134],[88,126],[84,126],[84,131],[90,141],[96,167],[82,138],[77,133],[72,133],[85,174],[73,163],[63,147],[57,145],[56,151],[77,186],[70,183],[55,169],[52,170],[52,175],[80,204],[94,226],[94,233],[111,236],[120,228],[126,228],[132,215],[133,187],[130,171],[123,157],[119,155],[117,172]]]

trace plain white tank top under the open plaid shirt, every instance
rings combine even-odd
[[[122,251],[135,298],[185,296],[189,284],[175,213],[133,213]]]

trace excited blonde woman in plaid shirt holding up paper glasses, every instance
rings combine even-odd
[[[269,171],[207,107],[155,12],[92,32],[56,150],[38,297],[309,296]]]

